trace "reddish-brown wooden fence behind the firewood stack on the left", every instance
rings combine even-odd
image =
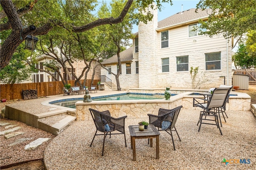
[[[99,80],[94,80],[93,84],[97,84]],[[83,84],[84,80],[81,80]],[[74,86],[75,80],[68,80],[71,86]],[[91,80],[86,80],[86,86],[90,88]],[[63,94],[64,85],[58,82],[40,82],[40,83],[21,83],[21,84],[0,84],[0,99],[15,100],[23,99],[22,90],[35,89],[38,97],[53,96]]]

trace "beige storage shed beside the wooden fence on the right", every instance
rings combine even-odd
[[[249,89],[249,76],[246,74],[233,74],[233,86],[239,86],[239,89]]]

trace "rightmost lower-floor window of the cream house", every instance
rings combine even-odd
[[[205,54],[205,69],[206,70],[220,70],[220,52]]]

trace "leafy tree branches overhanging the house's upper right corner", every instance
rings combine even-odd
[[[256,30],[255,0],[200,0],[196,9],[210,14],[207,22],[200,20],[200,28],[206,30],[200,34],[210,37],[222,34],[226,39],[238,37],[239,40],[248,31]]]

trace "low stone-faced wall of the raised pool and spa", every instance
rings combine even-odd
[[[157,92],[157,90],[156,90]],[[148,113],[158,115],[159,108],[171,109],[182,105],[184,109],[200,109],[193,107],[193,98],[199,97],[189,95],[193,92],[184,92],[176,96],[171,96],[170,100],[114,100],[114,101],[92,101],[91,103],[76,102],[77,120],[90,120],[89,108],[104,111],[109,110],[112,117],[127,118],[148,118]],[[245,93],[237,93],[238,96],[230,96],[227,110],[250,111],[250,96]]]

